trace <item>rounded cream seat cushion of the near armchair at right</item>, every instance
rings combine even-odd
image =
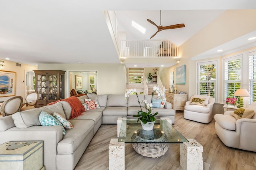
[[[231,115],[214,115],[215,121],[220,125],[220,127],[234,131],[236,130],[236,118]]]

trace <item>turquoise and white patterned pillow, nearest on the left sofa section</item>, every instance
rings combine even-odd
[[[39,121],[42,126],[61,126],[62,127],[62,134],[66,135],[66,130],[62,126],[62,124],[55,119],[51,114],[47,113],[46,111],[42,110],[39,115]]]

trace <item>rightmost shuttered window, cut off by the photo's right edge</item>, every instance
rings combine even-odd
[[[249,63],[249,104],[256,101],[256,51],[248,53]]]

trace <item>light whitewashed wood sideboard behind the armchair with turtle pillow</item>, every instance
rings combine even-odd
[[[174,110],[184,110],[187,94],[165,93],[166,101],[172,104]]]

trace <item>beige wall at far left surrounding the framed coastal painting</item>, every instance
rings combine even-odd
[[[21,66],[16,66],[16,62],[3,60],[5,66],[3,71],[14,71],[16,72],[16,89],[15,89],[15,96],[22,96],[23,100],[25,100],[25,86],[26,86],[26,75],[25,71],[33,71],[37,70],[37,66],[32,66],[28,64],[21,64]],[[2,70],[1,70],[2,71]],[[24,80],[24,82],[22,82]],[[0,101],[5,101],[12,96],[8,97],[0,97]]]

